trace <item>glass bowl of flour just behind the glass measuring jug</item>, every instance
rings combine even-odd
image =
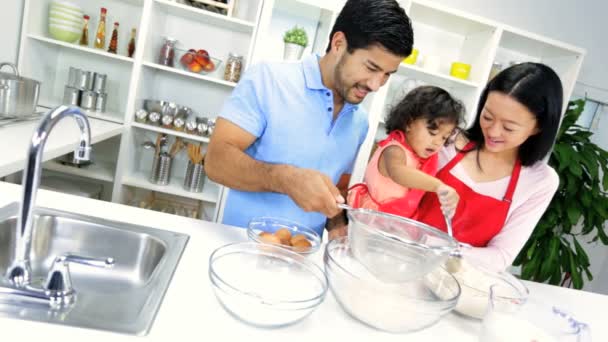
[[[507,271],[492,270],[480,261],[464,258],[452,275],[462,288],[455,311],[468,317],[483,318],[493,285],[498,285],[494,293],[497,302],[523,304],[528,299],[528,288],[521,280]]]

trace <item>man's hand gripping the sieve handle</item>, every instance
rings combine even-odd
[[[282,167],[279,172],[282,192],[304,211],[320,212],[327,217],[340,212],[337,203],[344,203],[344,198],[326,175],[292,166]]]

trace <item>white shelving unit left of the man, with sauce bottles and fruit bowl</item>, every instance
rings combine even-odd
[[[148,175],[153,153],[141,146],[143,141],[155,141],[158,134],[167,134],[172,141],[180,137],[187,142],[202,144],[204,153],[209,138],[137,123],[133,121],[133,115],[141,108],[144,99],[158,99],[174,101],[189,106],[199,116],[215,118],[224,99],[236,86],[234,82],[223,80],[225,60],[228,53],[236,52],[245,57],[244,68],[247,68],[257,37],[263,0],[236,2],[230,16],[172,0],[73,0],[91,17],[91,44],[101,7],[108,11],[106,45],[113,23],[120,22],[118,54],[50,37],[47,17],[51,2],[25,0],[18,61],[21,72],[41,81],[39,102],[45,107],[54,107],[62,102],[69,67],[106,74],[107,111],[86,113],[90,117],[121,123],[124,129],[119,139],[94,146],[94,156],[99,151],[104,158],[94,158],[92,165],[77,168],[64,165],[57,159],[45,163],[44,168],[53,174],[110,184],[113,202],[131,204],[126,195],[140,191],[164,194],[166,198],[174,196],[177,202],[183,199],[198,201],[201,218],[215,220],[223,187],[205,179],[203,192],[184,190],[183,173],[188,161],[184,151],[174,160],[170,184],[152,184]],[[133,58],[126,56],[131,28],[137,29]],[[206,49],[222,63],[217,70],[206,75],[181,69],[177,59],[175,68],[160,65],[157,58],[164,36],[177,38],[179,49]]]

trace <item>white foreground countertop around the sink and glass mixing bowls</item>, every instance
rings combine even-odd
[[[21,187],[0,182],[0,206],[16,201]],[[223,244],[245,241],[243,229],[178,216],[80,198],[51,191],[38,192],[38,206],[76,212],[107,220],[172,230],[190,235],[190,240],[162,302],[154,325],[145,337],[133,337],[89,329],[0,318],[5,340],[60,340],[87,342],[205,341],[211,338],[236,341],[477,341],[480,322],[454,313],[436,325],[411,334],[388,334],[368,328],[348,317],[331,293],[324,303],[303,321],[276,330],[257,329],[230,316],[213,295],[207,275],[208,257]],[[526,282],[530,296],[570,311],[591,326],[594,342],[608,341],[605,309],[608,296]]]

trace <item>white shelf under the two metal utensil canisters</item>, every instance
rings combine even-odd
[[[173,170],[171,181],[167,185],[156,185],[148,181],[148,174],[137,172],[123,178],[123,185],[134,186],[137,188],[151,191],[162,192],[170,195],[192,198],[195,200],[216,203],[219,197],[219,186],[205,178],[202,192],[190,192],[183,189],[184,178]]]

